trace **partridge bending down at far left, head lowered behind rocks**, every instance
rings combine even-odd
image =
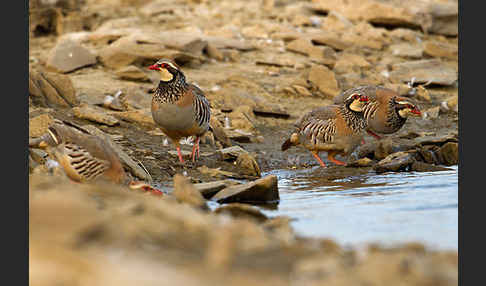
[[[46,134],[31,140],[29,147],[45,149],[75,182],[109,181],[128,185],[131,189],[162,194],[146,183],[131,181],[115,151],[101,138],[57,121]]]

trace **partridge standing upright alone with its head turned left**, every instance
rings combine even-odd
[[[179,161],[184,162],[179,140],[196,136],[192,161],[199,158],[199,140],[208,131],[211,117],[209,101],[204,92],[187,83],[184,73],[171,60],[162,59],[149,67],[159,71],[160,81],[152,96],[152,118],[176,146]]]

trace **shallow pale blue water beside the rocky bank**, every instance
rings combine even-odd
[[[305,236],[342,245],[422,242],[458,248],[458,173],[402,172],[323,178],[324,169],[273,170],[280,203],[268,216],[286,215]]]

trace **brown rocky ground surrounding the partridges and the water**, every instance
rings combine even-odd
[[[275,199],[272,177],[226,179],[317,165],[302,149],[280,152],[281,143],[302,113],[361,84],[399,91],[424,116],[380,141],[366,137],[347,158],[354,163],[329,176],[457,164],[457,1],[31,0],[29,8],[29,137],[63,120],[110,141],[132,177],[174,188],[161,198],[72,184],[31,149],[33,285],[457,285],[457,253],[343,249],[299,237],[287,218],[251,205],[208,211],[195,195]],[[151,118],[158,75],[147,67],[159,58],[180,64],[211,102],[215,132],[197,163],[180,164]],[[254,197],[259,186],[270,195]],[[235,192],[246,195],[231,200]]]

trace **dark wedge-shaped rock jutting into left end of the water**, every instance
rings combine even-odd
[[[253,182],[231,186],[219,191],[211,198],[222,203],[275,203],[280,200],[277,176],[268,175]]]

